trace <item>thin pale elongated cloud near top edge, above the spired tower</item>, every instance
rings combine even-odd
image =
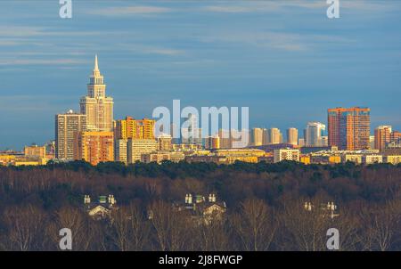
[[[135,5],[135,6],[121,6],[121,7],[111,7],[102,8],[97,10],[90,10],[86,13],[92,15],[101,16],[127,16],[135,14],[152,14],[152,13],[164,13],[171,12],[172,9],[160,6],[145,6],[145,5]]]

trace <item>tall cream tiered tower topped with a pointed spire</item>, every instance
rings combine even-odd
[[[80,100],[81,114],[86,115],[89,131],[111,132],[113,130],[113,99],[106,96],[106,85],[99,70],[97,55],[94,71],[89,78],[87,95]]]

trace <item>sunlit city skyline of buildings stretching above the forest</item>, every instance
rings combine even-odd
[[[36,166],[53,161],[86,160],[92,165],[119,161],[161,163],[235,161],[299,161],[305,164],[335,164],[352,161],[358,164],[400,163],[401,133],[392,126],[377,126],[371,135],[369,108],[335,108],[327,110],[327,127],[322,122],[307,122],[304,130],[290,127],[255,127],[249,132],[245,147],[236,148],[238,130],[219,129],[217,134],[202,136],[196,116],[190,114],[186,128],[170,126],[168,134],[155,135],[151,118],[113,117],[113,99],[106,95],[106,85],[97,56],[89,77],[87,94],[79,102],[80,111],[68,110],[54,118],[55,139],[43,146],[26,146],[23,152],[0,152],[0,165]],[[176,138],[179,130],[183,138]],[[283,135],[284,134],[284,135]],[[302,136],[302,137],[301,137]]]

